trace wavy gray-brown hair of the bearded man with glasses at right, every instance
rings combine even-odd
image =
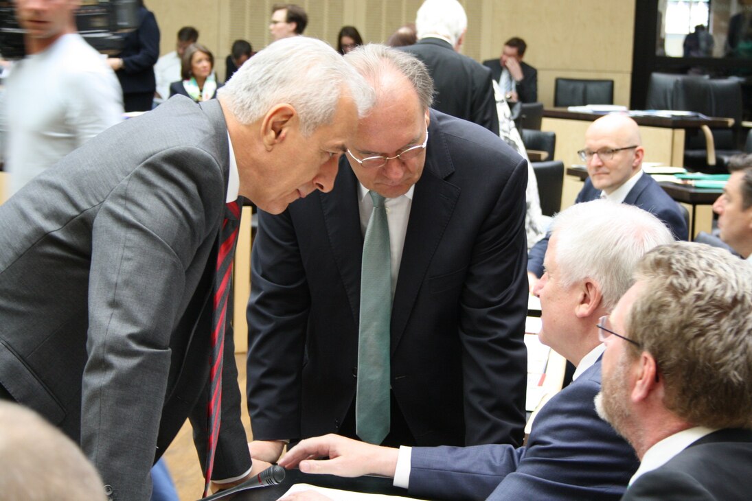
[[[726,249],[676,242],[649,252],[625,317],[653,355],[663,404],[693,426],[752,427],[752,267]],[[631,346],[631,345],[630,345]]]

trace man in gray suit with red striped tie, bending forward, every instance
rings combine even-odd
[[[186,418],[204,463],[225,204],[280,213],[329,192],[372,101],[323,42],[280,41],[217,100],[174,98],[117,125],[0,206],[0,398],[80,442],[111,499],[149,498]],[[228,329],[218,488],[263,466],[251,469],[233,351]]]

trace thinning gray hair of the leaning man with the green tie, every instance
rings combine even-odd
[[[387,71],[396,71],[412,83],[424,109],[433,103],[433,79],[420,59],[402,50],[381,44],[366,44],[345,54],[347,61],[368,83],[378,83]],[[385,89],[374,85],[376,101],[381,101]]]

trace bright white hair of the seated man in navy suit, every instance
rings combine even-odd
[[[553,218],[556,264],[562,285],[593,279],[611,311],[632,286],[632,273],[645,252],[672,243],[669,228],[633,205],[595,200],[575,204]]]

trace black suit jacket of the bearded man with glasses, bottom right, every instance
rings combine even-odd
[[[752,430],[718,430],[640,475],[623,501],[745,501],[750,499]]]

